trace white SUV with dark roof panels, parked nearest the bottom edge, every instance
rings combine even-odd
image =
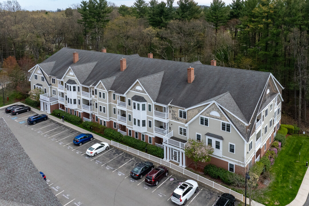
[[[198,191],[198,184],[194,180],[188,179],[184,183],[181,183],[171,195],[173,203],[178,205],[185,205],[187,201],[192,197],[194,193]]]

